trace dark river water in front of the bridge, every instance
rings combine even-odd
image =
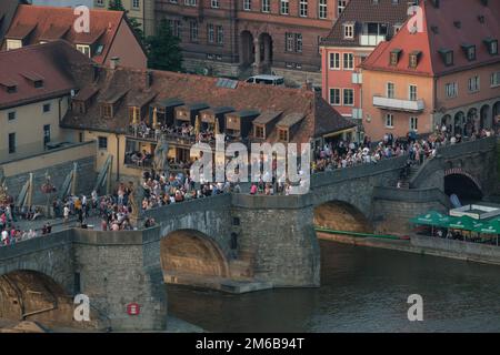
[[[500,266],[321,241],[321,287],[243,295],[168,285],[209,332],[500,332]],[[410,294],[423,321],[407,317]]]

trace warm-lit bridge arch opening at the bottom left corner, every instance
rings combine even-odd
[[[71,295],[52,277],[31,270],[0,276],[0,318],[30,321],[44,326],[82,327],[73,321]],[[86,323],[86,322],[83,322]]]

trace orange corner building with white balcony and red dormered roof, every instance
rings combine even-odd
[[[391,132],[431,133],[446,125],[470,136],[500,115],[500,3],[421,1],[420,10],[363,70],[363,126],[373,140]]]

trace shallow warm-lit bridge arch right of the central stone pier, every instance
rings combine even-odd
[[[314,207],[314,226],[333,231],[373,233],[372,223],[350,203],[329,201]]]

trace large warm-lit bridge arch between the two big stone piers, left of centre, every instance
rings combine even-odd
[[[196,230],[169,233],[160,242],[163,277],[228,277],[228,261],[217,243]]]

